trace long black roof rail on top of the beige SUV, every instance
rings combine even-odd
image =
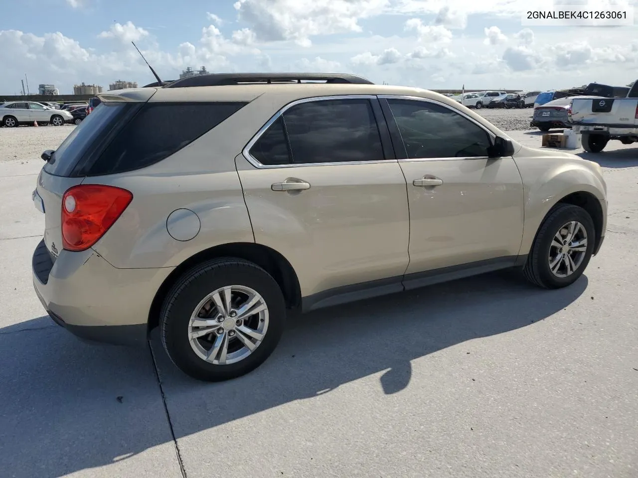
[[[223,86],[249,83],[353,83],[373,85],[374,83],[357,75],[332,73],[210,73],[209,75],[186,76],[166,85],[165,88],[187,88],[194,86]]]

